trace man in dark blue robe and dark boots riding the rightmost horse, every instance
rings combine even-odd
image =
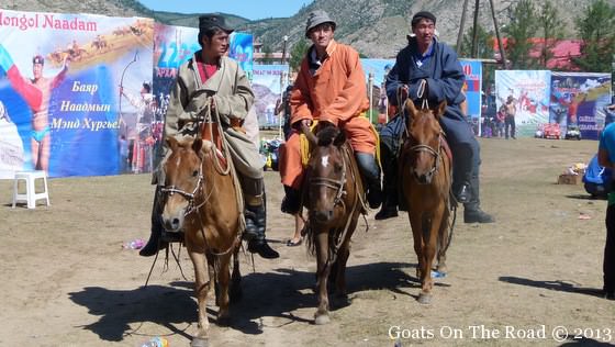
[[[463,222],[492,223],[494,219],[480,209],[479,199],[479,166],[480,146],[474,137],[470,123],[461,111],[460,104],[466,97],[461,92],[465,75],[457,54],[446,44],[437,41],[436,16],[427,11],[421,11],[412,18],[412,32],[405,46],[395,59],[395,65],[387,76],[387,94],[392,104],[400,104],[406,98],[415,102],[420,99],[420,86],[425,83],[425,96],[429,105],[436,105],[446,100],[447,108],[440,125],[452,149],[452,191],[459,202],[463,203]],[[398,100],[400,98],[400,100]],[[400,102],[401,101],[401,102]],[[385,142],[389,138],[399,138],[400,130],[404,126],[399,123],[405,116],[398,116],[381,132],[382,157],[391,147]],[[390,155],[390,154],[389,154]],[[384,165],[384,167],[387,167]],[[384,169],[385,186],[395,187],[389,177],[394,177],[396,168]],[[387,191],[387,187],[384,187]],[[385,197],[385,200],[388,197]],[[393,213],[395,211],[395,213]],[[396,215],[396,210],[383,206],[377,219]]]

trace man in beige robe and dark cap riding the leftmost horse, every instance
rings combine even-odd
[[[171,89],[167,114],[165,116],[165,138],[174,136],[200,136],[200,125],[206,112],[217,114],[222,122],[223,137],[228,142],[231,156],[243,190],[246,204],[246,230],[248,250],[264,258],[278,258],[265,239],[266,210],[262,161],[258,148],[245,135],[242,123],[254,103],[254,92],[248,78],[237,63],[226,57],[228,27],[222,15],[206,14],[199,18],[199,44],[202,49],[192,59],[179,67],[175,87]],[[170,155],[163,147],[158,154],[163,164]],[[152,236],[139,251],[142,256],[155,255],[167,246],[161,240],[159,190],[165,184],[165,172],[158,166],[154,182],[158,184],[152,212]]]

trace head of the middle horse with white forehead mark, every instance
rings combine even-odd
[[[311,220],[327,224],[336,219],[335,208],[346,193],[346,135],[336,126],[321,127],[316,136],[306,135],[312,145],[308,164],[308,209]]]

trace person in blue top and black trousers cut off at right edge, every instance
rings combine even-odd
[[[615,170],[615,123],[608,124],[600,135],[597,161],[600,166]],[[607,184],[613,183],[613,181],[607,182]],[[615,191],[613,189],[608,193],[605,224],[603,290],[606,299],[615,300]]]

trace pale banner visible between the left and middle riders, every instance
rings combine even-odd
[[[280,116],[276,114],[276,103],[288,86],[288,65],[255,65],[251,88],[256,96],[256,114],[258,125],[278,127]]]

